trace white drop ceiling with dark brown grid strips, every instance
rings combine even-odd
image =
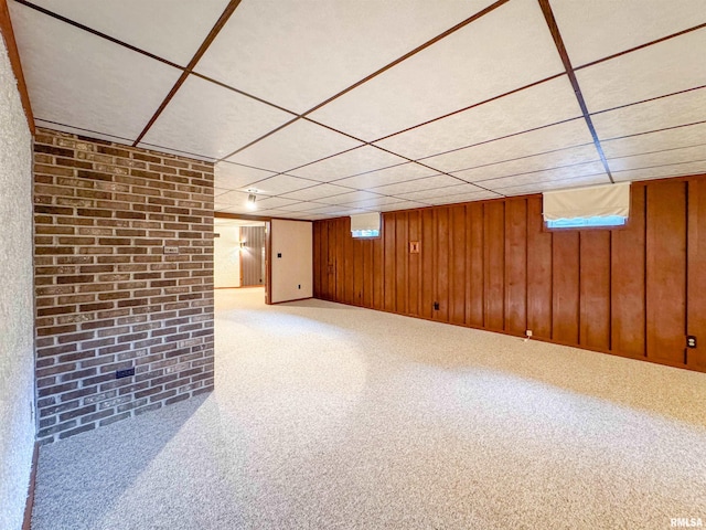
[[[324,219],[706,172],[704,0],[9,0],[35,121]]]

